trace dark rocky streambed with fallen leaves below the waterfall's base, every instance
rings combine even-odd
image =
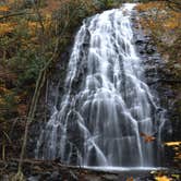
[[[0,181],[11,181],[17,171],[19,160],[0,161]],[[27,181],[154,181],[157,176],[179,181],[178,170],[121,170],[98,171],[71,167],[58,160],[24,160],[24,179]],[[176,177],[177,176],[177,177]]]

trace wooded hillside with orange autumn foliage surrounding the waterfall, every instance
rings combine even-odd
[[[140,172],[109,176],[109,172],[69,169],[59,161],[59,158],[49,162],[47,167],[46,161],[32,158],[34,156],[32,149],[35,148],[40,128],[45,126],[51,116],[52,102],[48,99],[57,96],[55,93],[49,96],[49,92],[57,88],[57,84],[62,84],[58,87],[58,92],[61,92],[60,97],[63,94],[69,57],[82,21],[108,9],[119,8],[124,2],[132,1],[5,0],[0,2],[0,180],[5,176],[7,180],[22,181],[38,173],[40,178],[50,180],[51,176],[48,172],[52,172],[53,169],[58,170],[55,178],[62,176],[63,180],[93,180],[93,178],[100,181],[120,178],[126,181],[132,181],[134,178],[141,178],[140,180],[149,178],[157,181],[179,180],[178,170],[181,166],[181,3],[179,0],[138,1],[132,19],[133,29],[141,29],[144,37],[149,39],[150,47],[145,47],[146,55],[152,57],[156,51],[162,61],[161,67],[157,69],[159,79],[150,84],[147,82],[152,88],[156,87],[160,106],[167,110],[166,134],[161,135],[164,137],[161,146],[166,148],[166,160],[162,162],[166,162],[170,170],[148,171],[144,172],[143,177]],[[84,48],[87,48],[87,45],[84,45]],[[144,53],[141,52],[141,56]],[[74,89],[80,86],[80,77],[74,84]],[[157,140],[157,135],[141,133],[141,138],[149,143]],[[43,176],[44,171],[47,176]]]

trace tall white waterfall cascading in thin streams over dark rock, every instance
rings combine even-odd
[[[162,116],[144,82],[131,28],[134,4],[84,21],[69,62],[65,94],[36,156],[81,166],[158,165]],[[146,143],[141,134],[157,133]]]

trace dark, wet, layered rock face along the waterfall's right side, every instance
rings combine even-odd
[[[146,67],[146,79],[150,89],[158,94],[161,108],[166,109],[166,122],[162,131],[162,142],[181,140],[181,81],[176,77],[167,67],[166,61],[158,53],[157,48],[149,35],[143,33],[138,20],[142,13],[134,12],[133,29],[136,48],[140,57],[144,59]],[[165,146],[162,144],[162,146]],[[174,161],[174,152],[171,147],[165,147],[162,165],[178,168],[178,160]]]

